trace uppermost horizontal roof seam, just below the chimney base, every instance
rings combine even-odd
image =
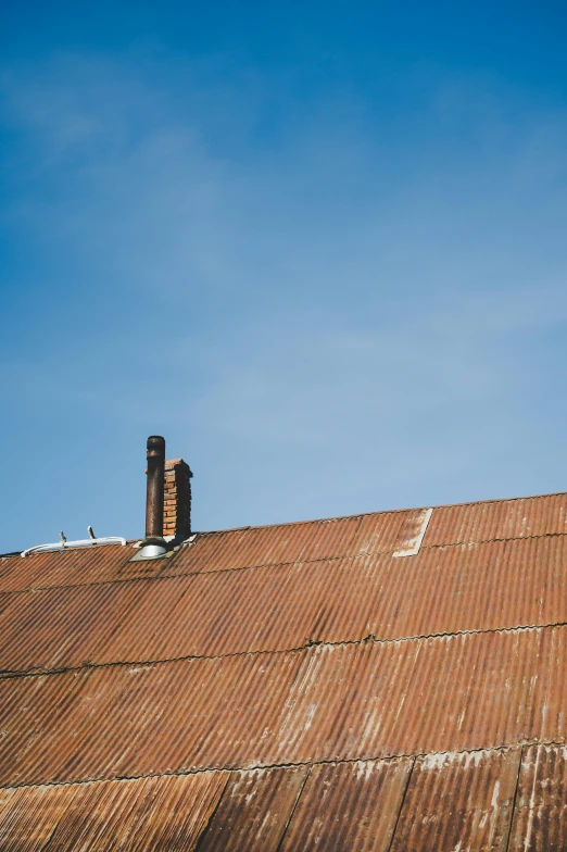
[[[542,532],[540,536],[511,536],[509,538],[483,538],[478,541],[449,541],[443,544],[421,544],[419,552],[424,550],[438,550],[441,548],[459,548],[467,544],[490,544],[494,541],[532,541],[539,538],[562,538],[567,532]],[[192,543],[192,542],[191,542]],[[83,589],[90,586],[112,586],[123,582],[158,582],[160,580],[177,579],[178,577],[196,577],[203,574],[228,574],[236,571],[257,571],[259,568],[282,568],[287,565],[314,565],[318,562],[337,562],[338,560],[354,560],[360,556],[387,556],[388,553],[395,553],[395,548],[388,550],[362,550],[360,553],[351,555],[342,554],[339,556],[323,556],[316,560],[291,560],[291,562],[264,562],[261,565],[241,565],[235,568],[218,568],[217,571],[188,571],[178,574],[162,574],[160,577],[119,577],[112,580],[92,580],[91,582],[71,582],[63,586],[27,586],[25,589],[5,589],[0,591],[0,598],[4,594],[23,594],[29,591],[46,591],[47,589]],[[173,557],[175,559],[175,556]],[[404,559],[415,559],[406,556]],[[173,562],[173,560],[172,560]]]

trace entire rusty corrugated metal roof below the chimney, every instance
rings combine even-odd
[[[567,494],[0,557],[0,849],[567,845]]]

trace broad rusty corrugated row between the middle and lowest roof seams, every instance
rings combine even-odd
[[[567,735],[567,628],[0,681],[0,784],[493,748]]]

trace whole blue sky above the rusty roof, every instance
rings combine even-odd
[[[0,550],[564,490],[562,5],[0,4]]]

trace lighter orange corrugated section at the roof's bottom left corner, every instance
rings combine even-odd
[[[206,826],[226,773],[24,787],[0,793],[0,849],[181,850]]]

